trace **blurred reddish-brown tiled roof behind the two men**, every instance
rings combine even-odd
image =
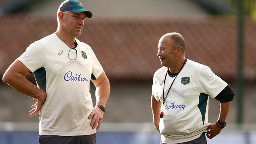
[[[56,31],[56,18],[31,15],[0,17],[0,74],[33,41]],[[256,79],[256,23],[245,20],[245,78]],[[151,80],[161,67],[157,54],[160,37],[178,32],[186,41],[186,57],[210,66],[223,79],[236,79],[237,38],[234,18],[86,19],[80,41],[89,44],[111,80]]]

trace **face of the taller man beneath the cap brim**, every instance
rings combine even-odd
[[[63,30],[69,35],[69,37],[78,37],[81,35],[84,26],[85,13],[73,13],[67,11],[63,16]]]

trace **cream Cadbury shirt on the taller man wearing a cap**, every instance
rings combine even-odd
[[[33,74],[47,97],[39,116],[39,135],[91,135],[96,132],[88,119],[92,111],[90,79],[103,68],[91,47],[78,41],[76,51],[53,33],[33,42],[17,58]],[[70,52],[69,52],[70,50]],[[71,59],[76,60],[70,60]]]

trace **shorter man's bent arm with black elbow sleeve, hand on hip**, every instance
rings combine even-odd
[[[234,91],[228,85],[215,97],[215,99],[219,100],[220,102],[220,115],[218,121],[223,123],[226,122],[226,117],[228,116],[231,101],[233,100],[234,95]],[[222,128],[224,127],[215,122],[208,127],[206,136],[211,139],[221,133]]]

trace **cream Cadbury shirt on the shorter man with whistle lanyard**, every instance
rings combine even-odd
[[[187,59],[184,68],[175,79],[167,74],[165,103],[163,83],[166,67],[158,69],[153,78],[152,94],[161,101],[163,118],[160,118],[161,141],[175,144],[194,140],[207,132],[208,96],[215,98],[228,84],[216,76],[208,66]],[[216,108],[217,109],[217,108]]]

